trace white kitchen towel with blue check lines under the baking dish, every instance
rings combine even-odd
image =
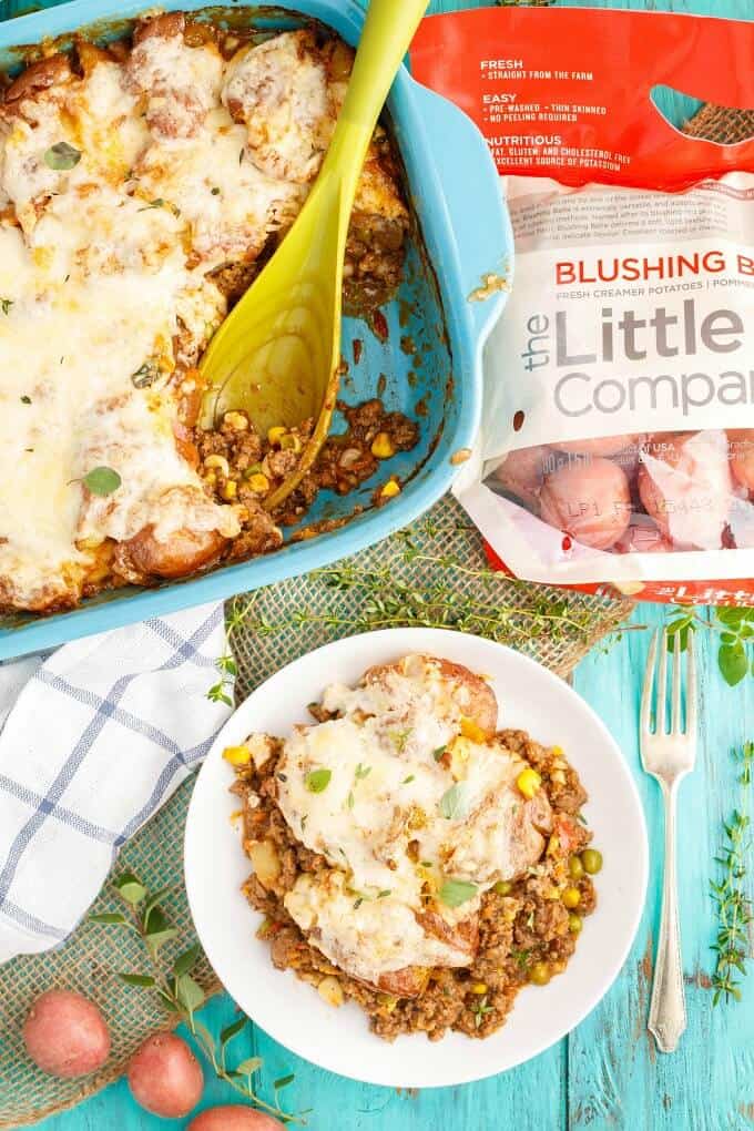
[[[205,605],[0,665],[0,962],[59,946],[203,759],[226,647]]]

